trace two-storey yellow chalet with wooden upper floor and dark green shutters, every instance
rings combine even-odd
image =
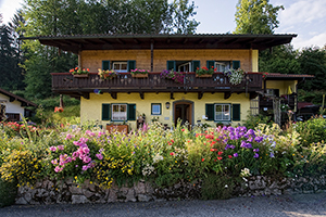
[[[76,53],[78,66],[90,69],[84,78],[52,73],[54,92],[80,99],[83,122],[126,122],[135,129],[137,119],[143,116],[147,123],[158,119],[168,127],[178,118],[190,125],[238,125],[248,114],[273,110],[273,102],[265,102],[261,93],[291,95],[289,104],[296,111],[297,84],[306,76],[265,75],[258,63],[260,50],[289,43],[296,36],[75,35],[23,39],[38,39],[42,44]],[[196,69],[203,66],[216,72],[209,78],[197,77]],[[114,69],[120,75],[101,79],[99,68]],[[130,71],[135,68],[150,73],[147,78],[134,78]],[[229,81],[223,73],[227,68],[247,72],[241,84]],[[183,72],[181,81],[162,77],[165,69]]]

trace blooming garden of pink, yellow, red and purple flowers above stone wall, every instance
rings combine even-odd
[[[189,130],[159,123],[122,133],[109,133],[92,123],[61,118],[0,124],[0,205],[14,203],[17,188],[40,180],[72,179],[100,189],[131,187],[139,181],[155,188],[200,183],[201,199],[235,196],[236,187],[255,176],[298,178],[326,174],[326,120],[259,124]]]

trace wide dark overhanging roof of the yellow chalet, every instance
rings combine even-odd
[[[264,50],[291,42],[297,35],[74,35],[22,37],[45,46],[78,53],[79,50],[120,49],[258,49]]]

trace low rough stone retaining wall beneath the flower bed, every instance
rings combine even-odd
[[[113,186],[103,190],[87,181],[82,187],[68,179],[66,181],[45,180],[29,187],[18,188],[16,204],[53,204],[53,203],[111,203],[111,202],[148,202],[162,200],[200,199],[201,184],[179,182],[170,188],[154,188],[139,181],[131,188]],[[234,190],[235,196],[279,195],[297,193],[326,192],[326,176],[318,178],[271,178],[249,177]]]

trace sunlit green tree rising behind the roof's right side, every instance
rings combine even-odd
[[[239,0],[234,34],[273,34],[279,10],[284,7],[273,7],[268,0]]]

